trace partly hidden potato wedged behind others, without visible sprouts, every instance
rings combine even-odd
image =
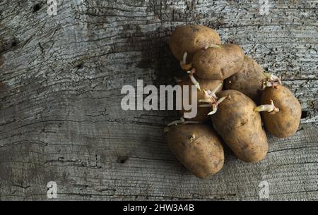
[[[237,90],[249,98],[256,104],[261,99],[261,85],[263,81],[263,69],[259,63],[244,56],[242,68],[224,81],[226,90]]]

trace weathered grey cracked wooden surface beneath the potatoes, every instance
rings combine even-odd
[[[0,1],[0,199],[318,199],[317,1]],[[38,4],[37,4],[38,3]],[[172,156],[175,111],[122,111],[120,90],[179,74],[177,25],[204,24],[280,75],[302,104],[300,129],[269,137],[264,161],[229,149],[200,180]]]

